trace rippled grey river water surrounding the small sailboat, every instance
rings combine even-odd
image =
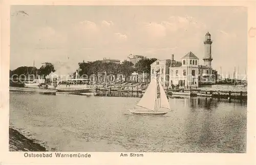
[[[139,98],[10,93],[10,126],[56,151],[246,152],[247,105],[169,98],[164,116],[133,115]]]

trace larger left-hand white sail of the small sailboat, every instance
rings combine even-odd
[[[150,82],[150,85],[148,85],[143,97],[137,104],[137,106],[155,110],[155,104],[156,104],[156,92],[157,92],[157,81],[156,79],[152,79]]]

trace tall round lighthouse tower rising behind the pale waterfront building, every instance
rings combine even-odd
[[[211,61],[212,61],[212,58],[211,58],[211,43],[212,43],[212,40],[210,39],[210,33],[207,32],[205,34],[205,40],[204,40],[204,58],[203,58],[203,61],[204,61],[204,65],[206,65],[210,68],[211,68]]]

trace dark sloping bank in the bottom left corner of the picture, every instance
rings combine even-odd
[[[9,151],[48,151],[45,147],[9,127]]]

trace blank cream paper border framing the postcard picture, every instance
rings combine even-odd
[[[248,35],[247,153],[144,153],[144,157],[120,157],[120,152],[88,152],[91,158],[25,158],[9,150],[10,5],[172,5],[245,6],[248,32],[255,30],[255,2],[238,1],[1,1],[0,164],[255,164],[255,36]],[[254,32],[256,33],[256,32]],[[81,152],[80,152],[81,153]]]

